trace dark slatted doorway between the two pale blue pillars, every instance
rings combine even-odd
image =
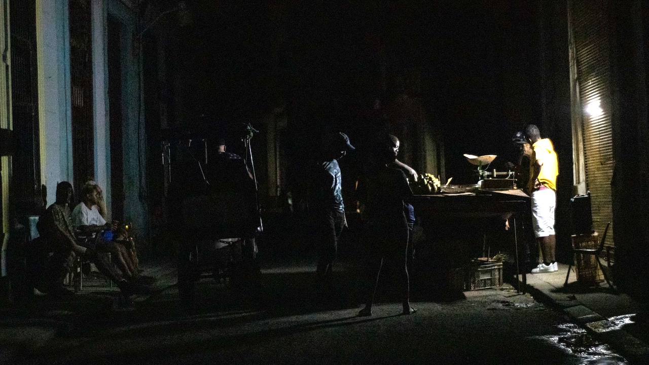
[[[95,175],[90,0],[69,0],[70,90],[74,188]],[[78,197],[79,195],[77,195]]]

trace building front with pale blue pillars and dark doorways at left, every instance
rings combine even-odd
[[[136,3],[3,1],[0,40],[10,49],[0,75],[3,275],[12,221],[54,203],[61,181],[77,194],[96,181],[110,218],[131,223],[136,240],[150,245],[147,132],[160,129],[165,108],[145,103],[164,72],[150,65],[164,64],[155,47],[164,31],[154,25],[167,12]]]

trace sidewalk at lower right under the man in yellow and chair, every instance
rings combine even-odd
[[[614,347],[631,364],[649,363],[649,323],[633,322],[639,304],[626,294],[609,288],[606,281],[598,287],[585,288],[576,281],[572,270],[564,287],[567,272],[568,265],[559,264],[559,271],[554,273],[528,273],[528,292],[538,301],[563,310],[598,340]]]

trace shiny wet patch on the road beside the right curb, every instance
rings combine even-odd
[[[570,355],[565,364],[628,364],[624,357],[617,355],[608,345],[595,340],[585,329],[582,329],[578,325],[565,323],[558,327],[562,331],[560,334],[534,336],[532,338],[556,346]]]

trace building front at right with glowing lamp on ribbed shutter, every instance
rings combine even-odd
[[[640,294],[649,280],[649,6],[540,4],[542,127],[559,154],[559,242],[571,244],[570,221],[581,219],[571,217],[570,197],[589,193],[594,230],[612,223],[606,244],[616,283]]]

